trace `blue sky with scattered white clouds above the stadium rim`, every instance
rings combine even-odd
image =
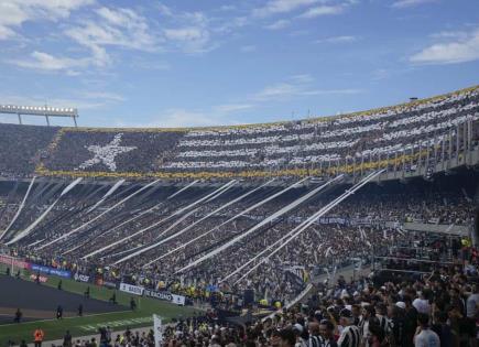
[[[80,126],[291,120],[479,84],[477,0],[0,0],[0,104],[77,107]]]

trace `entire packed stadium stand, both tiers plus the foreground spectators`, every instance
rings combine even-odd
[[[442,345],[477,344],[478,87],[294,122],[1,133],[11,254],[214,308],[171,346],[413,346],[429,318]]]

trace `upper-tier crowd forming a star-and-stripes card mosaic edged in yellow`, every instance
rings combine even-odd
[[[139,178],[368,172],[424,175],[479,140],[479,89],[334,118],[210,129],[0,126],[0,175]],[[3,150],[6,149],[6,150]]]

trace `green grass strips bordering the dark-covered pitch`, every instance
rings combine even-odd
[[[4,271],[2,272],[4,273]],[[23,274],[23,279],[28,279],[30,275],[28,272],[24,272]],[[48,281],[43,285],[56,288],[58,281],[59,278],[48,276]],[[91,283],[76,282],[74,280],[62,279],[62,284],[64,291],[77,293],[79,295],[83,295],[87,286],[89,286],[90,297],[102,301],[108,301],[113,293],[113,290],[97,286]],[[113,330],[121,330],[126,329],[127,327],[133,328],[152,326],[151,318],[153,314],[160,315],[163,318],[163,322],[168,322],[172,318],[177,318],[179,316],[190,316],[195,312],[195,310],[192,307],[182,307],[168,302],[134,295],[133,296],[137,300],[138,308],[132,312],[128,310],[131,296],[131,294],[117,291],[118,304],[126,306],[124,312],[72,317],[61,321],[48,319],[0,325],[0,346],[7,346],[8,340],[13,340],[14,343],[19,344],[22,339],[24,339],[26,343],[31,343],[33,339],[33,330],[39,326],[45,333],[45,340],[53,340],[63,338],[67,329],[74,337],[85,336],[95,334],[99,326],[106,325],[112,327]]]

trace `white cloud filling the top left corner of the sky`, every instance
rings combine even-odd
[[[66,19],[95,0],[2,0],[0,1],[0,40],[17,36],[15,29],[26,21],[57,21]]]

